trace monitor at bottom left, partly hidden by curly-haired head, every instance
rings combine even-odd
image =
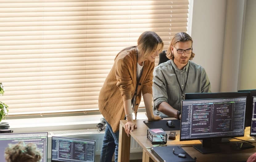
[[[8,144],[17,144],[23,141],[25,144],[34,143],[42,152],[41,162],[47,162],[47,141],[48,133],[0,133],[0,161],[6,161],[4,151]]]

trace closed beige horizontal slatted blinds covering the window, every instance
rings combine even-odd
[[[167,49],[187,19],[188,0],[1,0],[0,101],[9,115],[98,111],[117,53],[148,30]]]

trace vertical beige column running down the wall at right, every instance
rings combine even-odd
[[[243,41],[245,1],[227,1],[221,91],[237,91]]]

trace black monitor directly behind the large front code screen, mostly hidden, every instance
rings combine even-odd
[[[255,91],[256,93],[256,91]],[[236,97],[247,97],[246,99],[246,117],[245,117],[245,127],[251,126],[251,100],[249,91],[239,91],[239,92],[215,92],[215,93],[186,93],[185,100],[193,99],[208,99],[208,98],[236,98]],[[255,94],[256,96],[256,94]],[[250,100],[250,101],[248,101]],[[249,103],[250,102],[250,103]]]

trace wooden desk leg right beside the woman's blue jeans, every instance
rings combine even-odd
[[[127,136],[124,127],[119,127],[118,162],[130,161],[131,136]]]

